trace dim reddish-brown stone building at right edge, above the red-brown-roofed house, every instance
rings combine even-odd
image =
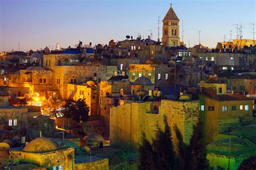
[[[256,76],[251,74],[241,74],[227,79],[227,87],[234,93],[255,95],[256,94]]]

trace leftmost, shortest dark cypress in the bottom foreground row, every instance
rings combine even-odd
[[[145,133],[142,133],[142,145],[139,145],[139,169],[154,169],[153,148],[149,140],[146,139]]]

